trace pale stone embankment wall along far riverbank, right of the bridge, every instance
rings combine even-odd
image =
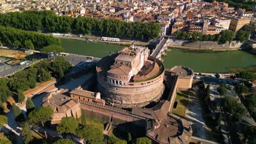
[[[241,47],[242,43],[238,41],[231,41],[226,44],[218,44],[217,41],[196,41],[193,42],[191,40],[179,40],[179,39],[170,39],[170,43],[168,46],[183,46],[183,47],[191,47],[198,49],[227,49],[227,48],[238,48]]]

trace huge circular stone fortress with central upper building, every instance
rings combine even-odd
[[[98,90],[109,105],[143,107],[164,92],[164,65],[142,46],[125,47],[97,65]]]

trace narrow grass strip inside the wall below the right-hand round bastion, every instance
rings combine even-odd
[[[185,110],[187,109],[189,98],[188,95],[190,92],[182,91],[177,92],[177,96],[175,98],[175,101],[178,101],[178,105],[176,109],[172,109],[172,113],[179,115],[179,116],[185,116]]]

